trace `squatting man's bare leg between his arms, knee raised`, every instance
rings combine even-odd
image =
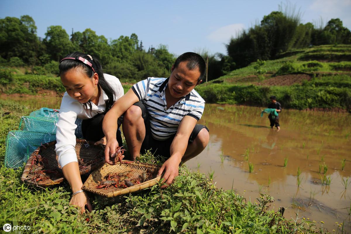
[[[133,161],[140,155],[145,138],[145,124],[141,115],[140,107],[132,105],[123,116],[122,130]]]

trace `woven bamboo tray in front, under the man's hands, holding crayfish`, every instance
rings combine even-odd
[[[128,160],[122,160],[122,164],[118,162],[115,165],[105,163],[98,170],[89,175],[88,179],[83,184],[83,189],[108,198],[136,192],[157,184],[157,182],[161,179],[161,176],[151,180],[146,180],[141,184],[136,184],[128,188],[116,188],[114,186],[110,186],[105,189],[97,188],[97,186],[99,185],[99,181],[101,182],[106,180],[105,177],[110,172],[123,173],[128,171],[129,177],[139,177],[139,175],[141,175],[144,171],[146,172],[147,169],[151,169],[157,173],[160,167],[153,164],[138,163]]]

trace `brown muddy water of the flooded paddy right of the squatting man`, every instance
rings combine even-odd
[[[351,181],[351,115],[283,110],[277,132],[269,127],[267,114],[260,117],[260,110],[207,104],[200,122],[210,129],[210,143],[186,163],[188,167],[207,175],[214,172],[218,187],[233,188],[252,202],[259,193],[271,195],[275,200],[271,208],[285,207],[287,219],[296,219],[299,207],[298,218],[316,220],[319,227],[324,221],[330,232],[337,230],[335,222],[344,222],[344,230],[351,232],[346,210],[351,184],[345,189],[342,183]],[[346,165],[341,170],[343,159]],[[324,164],[329,186],[320,179],[324,168],[319,173],[319,165]]]

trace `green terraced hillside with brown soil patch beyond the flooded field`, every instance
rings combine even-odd
[[[208,103],[265,106],[275,95],[285,108],[350,111],[350,88],[351,46],[328,45],[251,63],[196,90]]]

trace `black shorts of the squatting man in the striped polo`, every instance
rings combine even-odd
[[[145,105],[141,102],[134,103],[134,105],[139,106],[142,112],[142,117],[144,119],[145,124],[145,138],[143,144],[141,144],[140,153],[144,153],[146,150],[150,150],[154,155],[160,155],[165,158],[171,157],[170,155],[170,147],[173,142],[174,137],[176,134],[172,135],[167,140],[157,140],[154,139],[151,135],[151,127],[150,127],[150,117],[148,115],[147,109]],[[207,131],[208,128],[205,125],[196,124],[193,131],[190,134],[188,143],[192,143],[201,129],[205,128]]]

